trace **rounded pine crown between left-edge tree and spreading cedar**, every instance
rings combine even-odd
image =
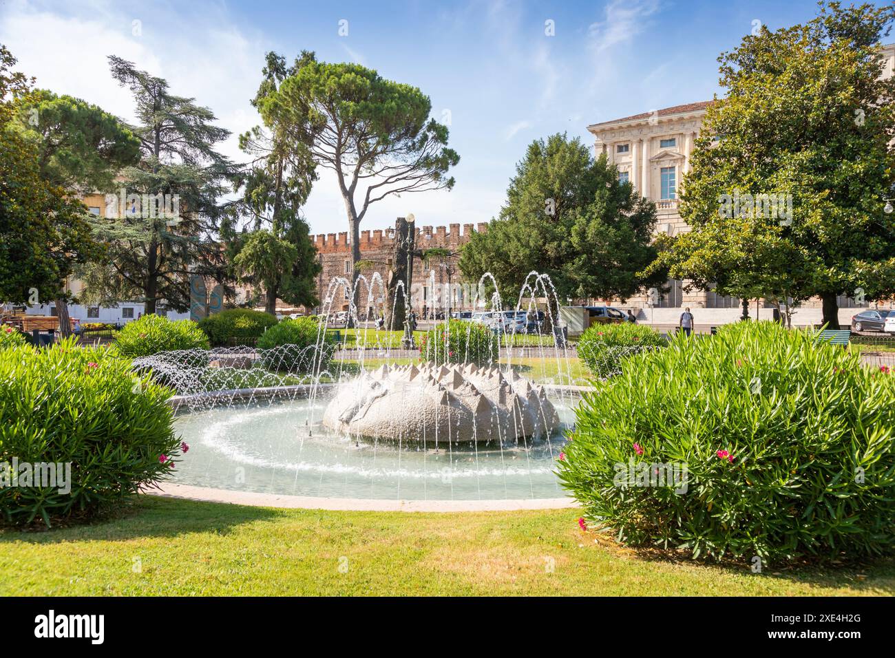
[[[16,106],[15,127],[34,143],[40,176],[51,185],[109,192],[115,175],[140,159],[140,142],[124,124],[80,98],[36,90]],[[63,336],[71,333],[68,301],[55,299]]]

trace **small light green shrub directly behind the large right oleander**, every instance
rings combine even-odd
[[[595,324],[578,340],[578,356],[594,377],[605,379],[617,374],[628,356],[666,345],[658,331],[642,324]]]

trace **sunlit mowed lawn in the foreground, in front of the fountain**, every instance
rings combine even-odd
[[[895,564],[719,566],[594,542],[575,509],[421,514],[143,498],[0,533],[0,595],[895,594]]]

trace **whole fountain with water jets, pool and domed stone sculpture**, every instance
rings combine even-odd
[[[366,286],[368,305],[384,314],[378,274],[355,286]],[[555,292],[549,278],[532,273],[517,308],[524,295]],[[342,298],[355,298],[346,279],[326,295],[316,346],[189,350],[134,361],[176,390],[176,430],[190,452],[176,464],[175,483],[367,500],[565,495],[556,460],[581,395],[569,385],[584,383],[571,378],[565,343],[516,346],[501,334],[499,354],[488,363],[425,363],[419,352],[380,344],[368,335],[370,323],[358,319],[350,329],[354,345],[345,330],[333,352],[323,346],[323,328]],[[473,303],[483,306],[478,295]],[[499,296],[491,303],[500,308]],[[351,313],[356,318],[354,306]],[[552,325],[550,308],[548,315]]]

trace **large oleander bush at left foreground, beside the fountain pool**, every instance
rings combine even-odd
[[[0,350],[0,382],[0,518],[7,524],[93,517],[163,481],[182,451],[166,403],[171,391],[137,378],[130,361],[107,349],[69,338]],[[70,487],[64,466],[56,486],[22,479],[10,486],[13,460],[20,477],[26,463],[69,464]]]

